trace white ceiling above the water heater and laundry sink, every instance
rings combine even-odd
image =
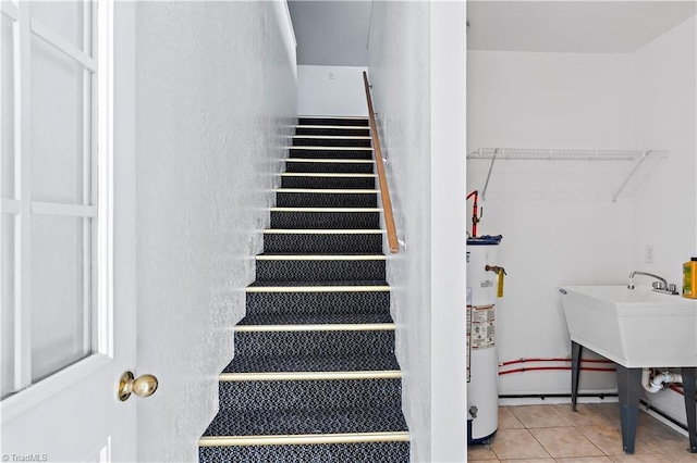
[[[694,16],[692,1],[468,1],[469,50],[631,53]]]

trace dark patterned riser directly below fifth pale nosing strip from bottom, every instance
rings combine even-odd
[[[267,261],[257,260],[257,279],[276,281],[367,280],[384,277],[384,260],[375,261]]]

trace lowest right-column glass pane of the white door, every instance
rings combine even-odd
[[[32,380],[89,354],[90,329],[83,249],[88,218],[32,218]],[[88,237],[87,237],[88,239]],[[89,297],[87,297],[89,299]]]

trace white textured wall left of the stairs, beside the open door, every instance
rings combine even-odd
[[[137,9],[140,461],[197,461],[296,114],[281,2]]]

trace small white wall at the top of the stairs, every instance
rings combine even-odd
[[[297,113],[367,116],[360,66],[297,66]]]

